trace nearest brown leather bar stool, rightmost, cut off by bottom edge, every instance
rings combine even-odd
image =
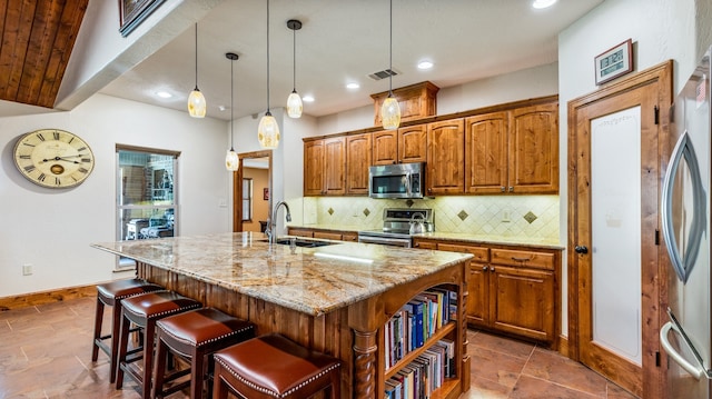
[[[280,335],[266,335],[215,353],[214,398],[308,398],[328,389],[340,398],[340,361]]]

